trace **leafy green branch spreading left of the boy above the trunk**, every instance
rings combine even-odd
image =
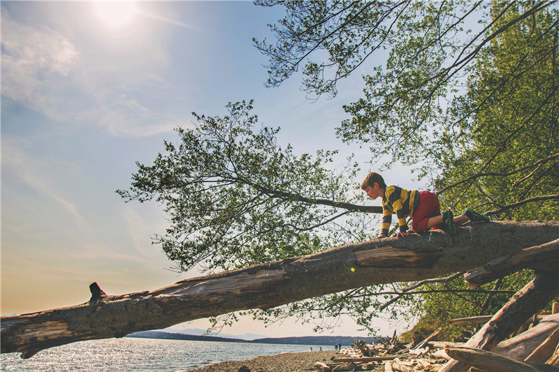
[[[177,128],[180,142],[165,142],[153,165],[138,164],[131,188],[117,191],[164,204],[170,226],[154,242],[178,269],[246,267],[363,237],[343,228],[359,207],[347,181],[358,168],[326,168],[337,151],[282,149],[279,128],[256,127],[252,101],[226,107],[224,117],[194,114],[196,126]]]

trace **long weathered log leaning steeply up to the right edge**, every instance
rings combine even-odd
[[[559,295],[558,271],[537,274],[534,280],[519,290],[484,327],[479,329],[477,334],[465,343],[465,347],[492,350],[499,341],[516,331],[524,319],[537,313],[557,295]],[[467,366],[463,362],[452,359],[440,369],[440,372],[463,372],[466,369]]]

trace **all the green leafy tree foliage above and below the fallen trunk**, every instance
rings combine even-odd
[[[254,40],[269,58],[268,87],[300,70],[310,97],[333,97],[342,79],[363,73],[363,97],[344,105],[350,119],[337,134],[370,146],[372,163],[415,165],[455,214],[474,207],[493,218],[558,218],[556,1],[256,3],[286,9],[270,25],[275,43]],[[179,269],[231,269],[372,235],[368,213],[379,208],[361,205],[351,160],[335,168],[336,151],[295,156],[277,144],[279,129],[258,128],[252,103],[227,108],[224,117],[194,114],[194,128],[177,129],[180,144],[166,142],[166,153],[138,164],[130,190],[119,191],[165,204],[171,226],[154,239]],[[252,315],[324,319],[321,328],[347,314],[374,331],[379,311],[396,319],[412,308],[434,324],[491,313],[507,295],[488,291],[518,290],[530,275],[476,293],[461,278],[356,288]]]

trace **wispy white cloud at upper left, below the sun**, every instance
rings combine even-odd
[[[4,97],[55,121],[101,126],[117,136],[146,137],[176,126],[169,112],[154,109],[151,96],[128,96],[138,91],[173,89],[172,82],[157,74],[167,61],[153,56],[162,53],[150,52],[141,68],[135,70],[129,59],[118,64],[112,63],[110,57],[89,60],[86,56],[103,53],[82,53],[79,45],[59,31],[18,23],[5,8],[1,21]],[[148,49],[154,47],[146,44]],[[157,46],[158,50],[162,47]],[[111,68],[99,70],[99,63],[110,64]]]

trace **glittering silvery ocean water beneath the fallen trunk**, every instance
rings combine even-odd
[[[189,371],[208,364],[274,355],[317,351],[319,345],[277,345],[211,341],[110,338],[82,341],[38,352],[30,359],[1,354],[1,371],[29,372],[151,372]],[[322,346],[333,350],[333,346]]]

